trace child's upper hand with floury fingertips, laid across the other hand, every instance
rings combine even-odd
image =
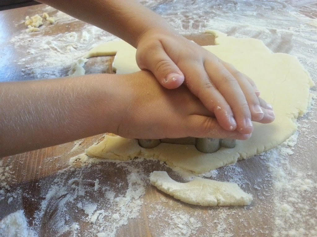
[[[251,120],[270,123],[275,118],[249,77],[175,32],[148,30],[139,38],[136,59],[165,88],[177,88],[185,81],[227,131],[250,134]]]

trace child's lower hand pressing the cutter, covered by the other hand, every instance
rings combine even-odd
[[[127,138],[160,139],[211,137],[248,139],[249,134],[223,129],[201,101],[185,85],[163,88],[151,72],[120,75],[115,115],[117,135]],[[122,84],[121,84],[122,83]],[[121,102],[120,102],[121,101]],[[124,105],[124,107],[122,107]],[[120,108],[120,109],[118,109]],[[113,119],[114,120],[114,119]]]

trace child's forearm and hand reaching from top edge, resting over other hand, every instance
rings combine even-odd
[[[247,76],[204,48],[176,33],[164,18],[136,0],[40,0],[113,33],[137,48],[137,63],[152,71],[165,88],[187,87],[215,114],[219,125],[242,134],[253,131],[251,120],[269,123],[273,110],[259,101],[259,92]],[[102,17],[100,17],[102,16]]]

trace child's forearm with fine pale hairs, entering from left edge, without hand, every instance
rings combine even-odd
[[[1,83],[0,157],[114,132],[120,92],[113,77]]]

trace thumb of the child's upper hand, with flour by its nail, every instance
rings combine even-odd
[[[136,60],[140,69],[150,70],[159,83],[167,89],[178,88],[184,82],[184,74],[162,46],[150,50],[137,50]]]

